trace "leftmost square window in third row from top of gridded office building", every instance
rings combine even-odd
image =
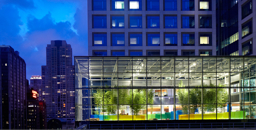
[[[107,46],[107,34],[92,34],[93,46]]]

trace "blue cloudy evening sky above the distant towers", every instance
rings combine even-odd
[[[0,1],[0,45],[19,51],[28,80],[41,75],[51,40],[66,40],[73,56],[88,55],[87,0]]]

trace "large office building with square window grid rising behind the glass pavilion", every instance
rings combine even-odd
[[[88,55],[254,55],[255,5],[254,0],[88,0]]]

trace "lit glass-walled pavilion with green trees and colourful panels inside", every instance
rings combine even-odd
[[[256,119],[256,58],[75,56],[76,121]]]

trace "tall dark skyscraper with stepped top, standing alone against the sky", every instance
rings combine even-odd
[[[46,66],[42,66],[42,100],[47,118],[73,118],[75,87],[72,48],[66,41],[51,41],[46,47]]]

